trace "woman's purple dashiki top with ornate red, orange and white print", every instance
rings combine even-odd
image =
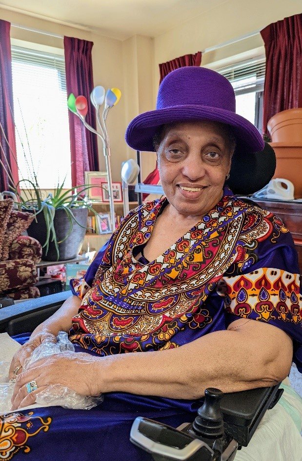
[[[159,351],[256,319],[293,338],[302,371],[298,257],[282,221],[225,188],[216,207],[161,256],[138,262],[135,248],[150,238],[166,201],[132,210],[84,278],[71,280],[82,304],[70,340],[102,356]]]

